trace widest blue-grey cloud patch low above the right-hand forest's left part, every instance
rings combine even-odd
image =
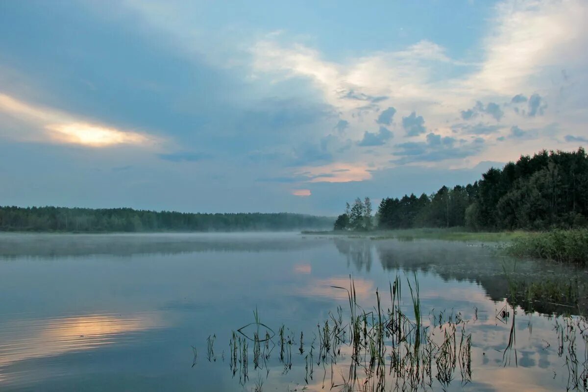
[[[396,145],[399,150],[393,153],[399,159],[391,160],[392,163],[400,165],[412,162],[437,162],[445,159],[465,158],[476,155],[482,150],[484,140],[473,139],[472,142],[456,140],[449,136],[441,136],[436,133],[429,133],[426,142],[409,142]]]

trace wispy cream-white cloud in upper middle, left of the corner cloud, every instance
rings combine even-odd
[[[330,105],[343,110],[358,109],[366,102],[379,103],[392,94],[402,98],[433,98],[427,88],[433,65],[453,63],[445,48],[430,41],[346,63],[326,61],[315,49],[300,43],[284,45],[275,36],[255,43],[251,53],[255,75],[265,72],[275,76],[275,81],[306,78],[323,92]]]

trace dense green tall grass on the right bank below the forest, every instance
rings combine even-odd
[[[585,265],[588,262],[588,229],[552,230],[517,237],[506,250],[517,257]]]

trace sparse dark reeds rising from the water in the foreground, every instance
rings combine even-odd
[[[516,303],[521,287],[513,282],[506,270],[505,273],[510,285],[509,301],[496,309],[494,317],[496,323],[507,326],[507,343],[496,351],[502,354],[503,367],[518,367],[516,316],[521,309],[513,303]],[[401,305],[403,284],[410,294],[408,311]],[[319,390],[319,387],[320,390],[346,392],[445,391],[452,384],[453,389],[465,388],[475,380],[472,371],[475,343],[469,330],[475,328],[478,321],[477,308],[469,319],[455,309],[431,309],[424,316],[416,273],[412,279],[403,280],[396,276],[389,283],[389,292],[385,294],[387,305],[383,304],[382,293],[376,289],[375,306],[371,309],[364,309],[358,303],[352,277],[349,277],[348,287],[330,288],[345,290],[348,304],[345,309],[338,306],[335,311],[329,311],[312,334],[300,331],[299,341],[296,339],[298,334],[283,324],[276,333],[262,323],[258,310],[253,311],[255,321],[232,331],[228,347],[229,370],[241,386],[251,384],[249,372],[253,371],[257,377],[251,390],[261,391],[263,380],[269,378],[270,373],[272,377],[285,377],[293,364],[304,370],[300,372],[303,380],[295,381],[292,389],[288,386],[287,390],[293,391]],[[557,283],[552,283],[548,290],[558,294],[572,291]],[[533,313],[531,296],[553,300],[537,286],[529,287],[528,293],[529,307],[524,314],[529,317]],[[531,319],[528,328],[532,329]],[[566,366],[566,389],[587,391],[588,319],[567,313],[554,319],[553,330],[552,343]],[[206,340],[209,362],[216,361],[211,354],[215,338],[209,336]],[[544,342],[548,347],[552,344],[547,340]],[[196,353],[193,363],[196,363]]]

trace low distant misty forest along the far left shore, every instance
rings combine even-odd
[[[181,213],[131,208],[2,207],[0,231],[19,232],[230,232],[324,229],[329,217],[293,213]]]

